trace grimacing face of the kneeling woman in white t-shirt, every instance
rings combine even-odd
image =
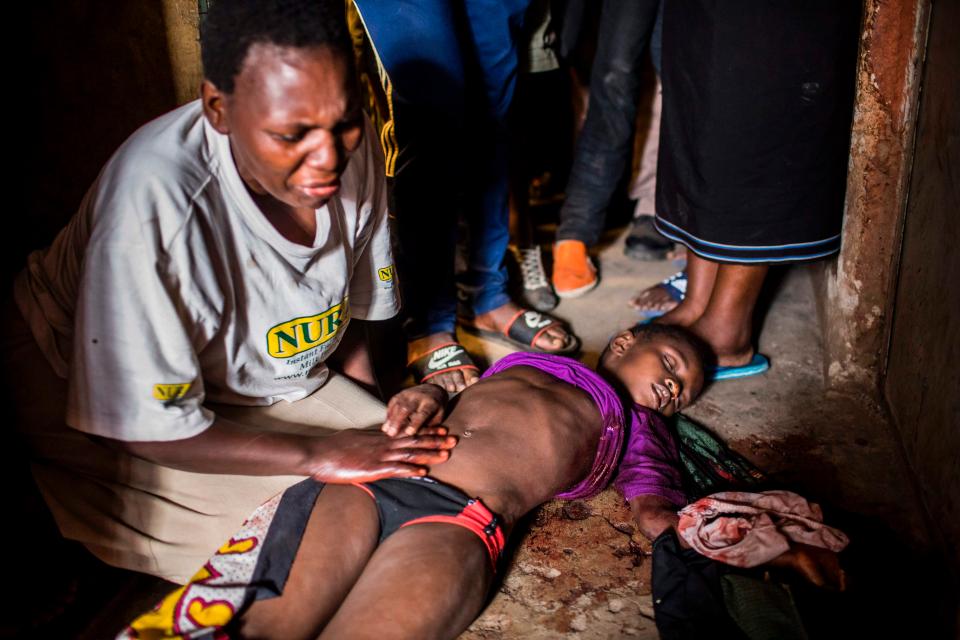
[[[316,209],[340,188],[363,116],[350,67],[328,47],[254,44],[233,93],[203,83],[204,112],[230,137],[247,188]]]

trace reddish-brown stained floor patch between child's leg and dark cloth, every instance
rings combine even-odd
[[[657,638],[650,553],[612,490],[546,504],[530,518],[490,606],[461,638]]]

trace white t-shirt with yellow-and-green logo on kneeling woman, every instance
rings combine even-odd
[[[376,134],[368,122],[306,247],[254,204],[199,101],[184,105],[114,154],[15,297],[81,431],[178,440],[213,422],[205,400],[299,400],[350,318],[399,310]]]

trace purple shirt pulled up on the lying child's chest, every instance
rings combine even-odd
[[[512,353],[487,369],[483,377],[520,366],[539,369],[583,389],[593,398],[603,421],[590,474],[576,486],[557,494],[557,498],[589,498],[613,480],[626,500],[655,495],[678,506],[687,503],[676,442],[660,414],[639,405],[625,410],[623,400],[610,383],[589,367],[563,356]]]

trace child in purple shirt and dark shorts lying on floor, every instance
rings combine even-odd
[[[445,417],[439,387],[407,389],[383,430],[456,438],[448,461],[429,476],[291,487],[121,637],[211,627],[244,638],[455,637],[480,612],[511,529],[537,505],[596,495],[616,472],[644,534],[676,524],[686,498],[658,414],[700,393],[700,354],[682,329],[643,325],[611,340],[597,372],[512,354]]]

